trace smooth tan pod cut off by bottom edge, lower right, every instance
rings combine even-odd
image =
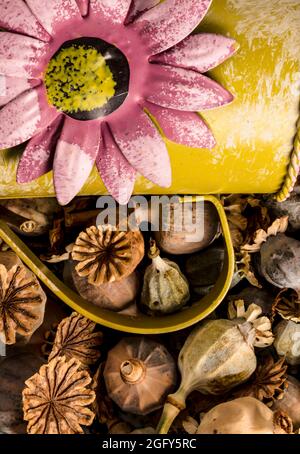
[[[197,434],[290,434],[293,424],[288,415],[273,413],[253,397],[241,397],[210,410]]]

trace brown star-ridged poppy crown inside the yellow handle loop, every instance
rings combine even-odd
[[[81,232],[72,251],[73,260],[79,262],[77,273],[93,285],[129,276],[143,256],[140,231],[121,231],[110,225],[92,226]]]

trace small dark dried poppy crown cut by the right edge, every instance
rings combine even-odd
[[[285,320],[300,323],[299,296],[295,290],[283,289],[275,298],[273,315],[279,314]]]

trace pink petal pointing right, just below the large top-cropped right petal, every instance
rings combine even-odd
[[[237,50],[234,39],[202,33],[189,36],[172,49],[155,55],[151,61],[205,73],[223,63]]]

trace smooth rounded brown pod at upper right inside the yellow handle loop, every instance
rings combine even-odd
[[[154,233],[162,251],[173,255],[192,254],[209,246],[219,235],[218,213],[211,203],[205,202],[203,209],[200,203],[171,203],[169,210],[163,229]]]

